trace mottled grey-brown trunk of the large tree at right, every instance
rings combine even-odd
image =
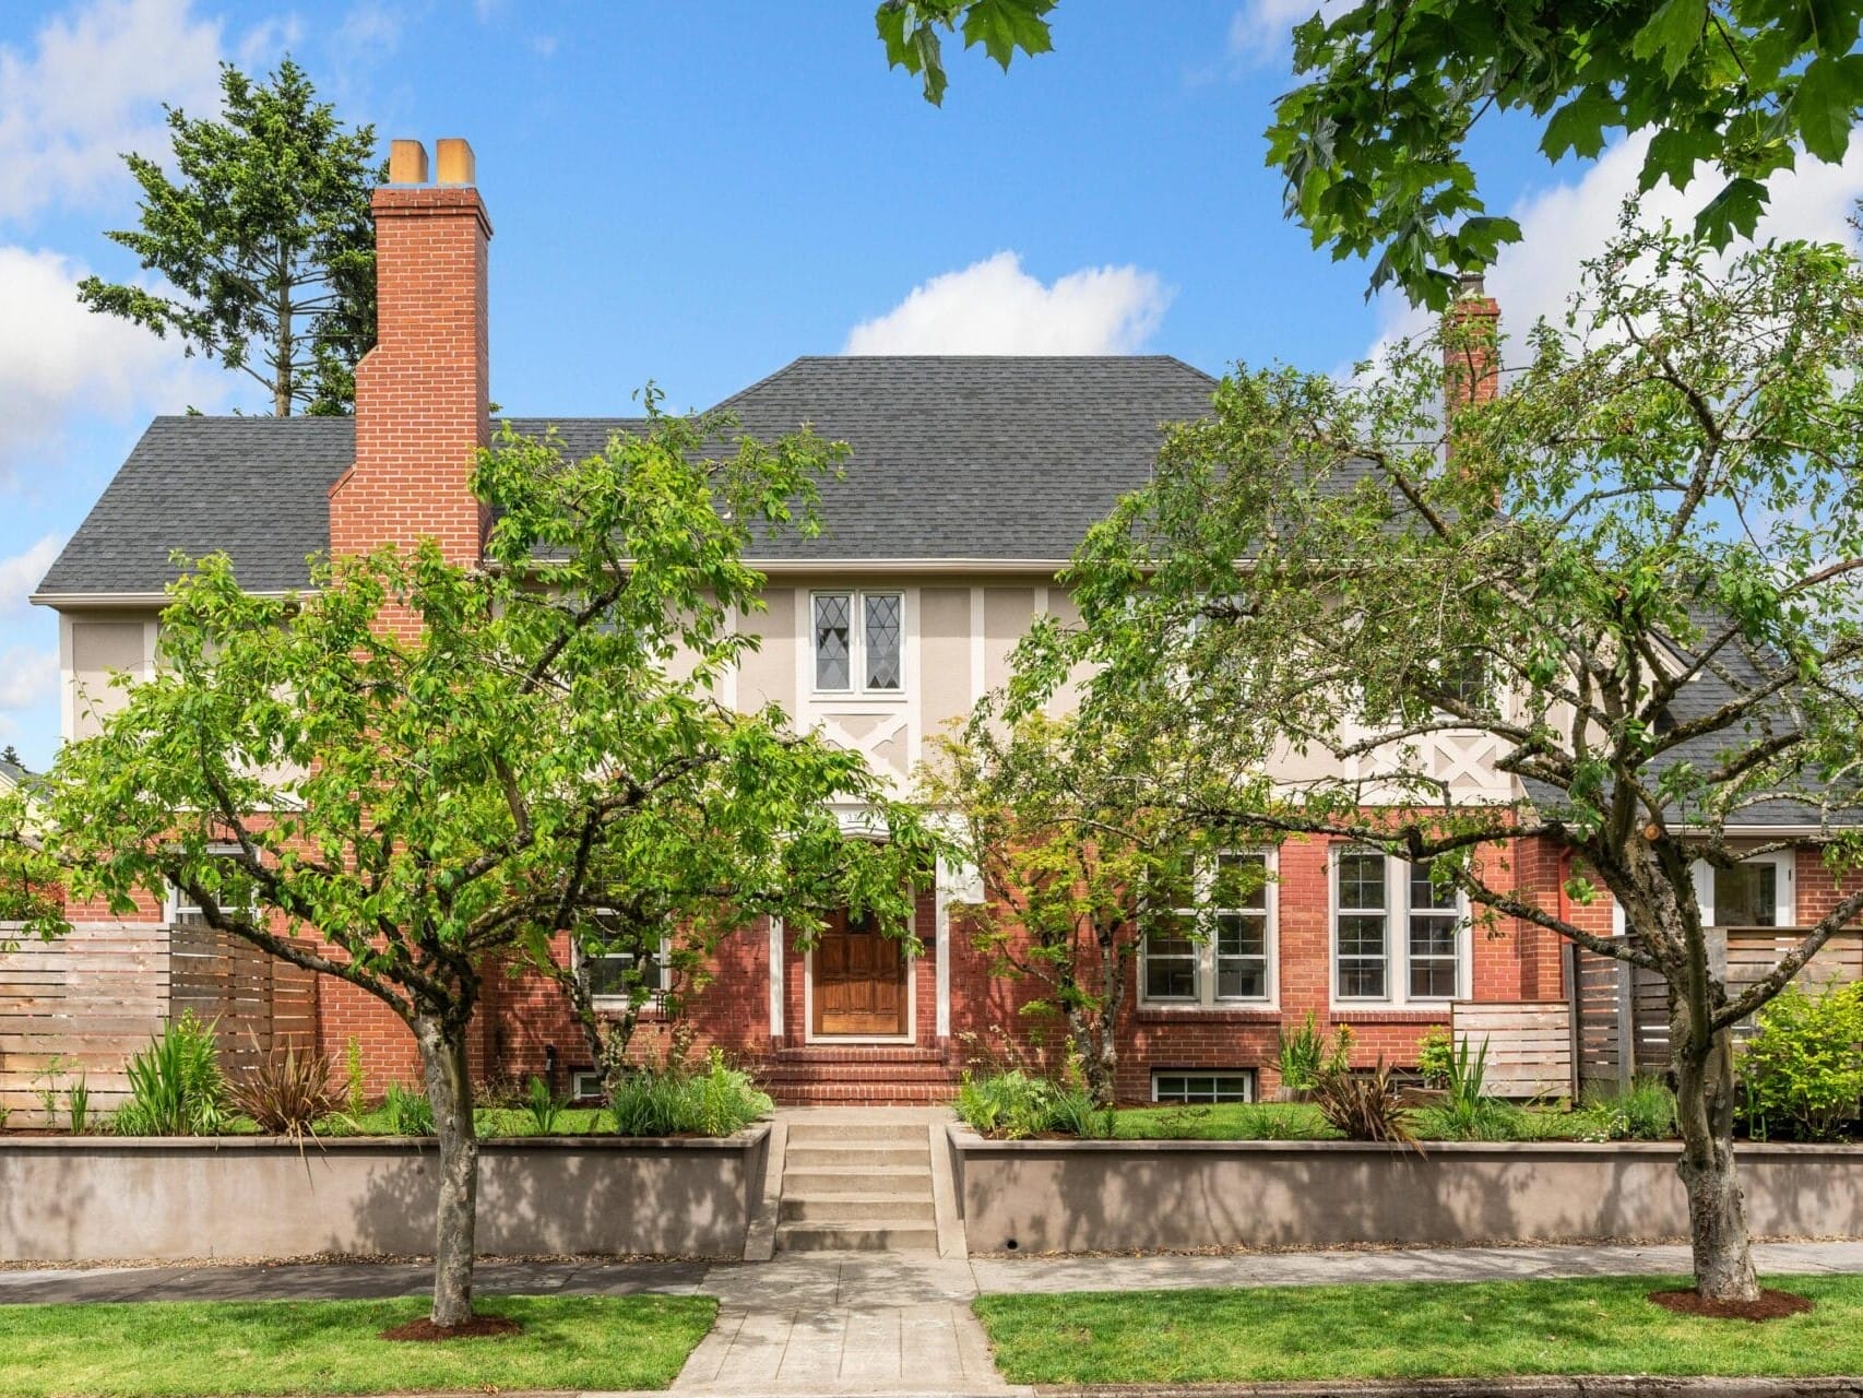
[[[1721,1029],[1697,1044],[1688,1005],[1673,997],[1669,1044],[1675,1051],[1675,1107],[1682,1130],[1677,1171],[1688,1191],[1688,1241],[1695,1290],[1716,1301],[1759,1295],[1747,1245],[1746,1191],[1734,1172],[1733,1035]]]

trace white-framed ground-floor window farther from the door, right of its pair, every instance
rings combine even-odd
[[[1332,865],[1334,992],[1423,1001],[1462,994],[1462,900],[1427,865],[1339,850]]]

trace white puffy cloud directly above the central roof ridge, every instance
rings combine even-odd
[[[1131,354],[1170,298],[1136,267],[1082,267],[1043,285],[999,252],[913,287],[850,330],[842,354]]]

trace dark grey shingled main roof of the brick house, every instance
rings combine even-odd
[[[1209,412],[1217,382],[1151,356],[810,356],[719,406],[771,438],[810,423],[853,447],[822,488],[816,539],[758,539],[756,561],[1058,563],[1149,479],[1159,427]],[[598,451],[633,418],[516,418]],[[45,600],[153,595],[170,554],[224,550],[253,591],[302,587],[330,546],[348,418],[156,418],[39,583]]]

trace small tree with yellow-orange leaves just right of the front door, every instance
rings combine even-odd
[[[1069,720],[1034,712],[1008,727],[986,701],[928,764],[924,798],[961,824],[989,893],[965,917],[972,945],[993,975],[1036,986],[1027,1012],[1062,1020],[1088,1090],[1112,1105],[1118,1018],[1144,938],[1209,939],[1209,908],[1239,904],[1198,897],[1207,831],[1176,807],[1131,803],[1129,774],[1105,755]],[[1189,926],[1185,908],[1200,910]]]

